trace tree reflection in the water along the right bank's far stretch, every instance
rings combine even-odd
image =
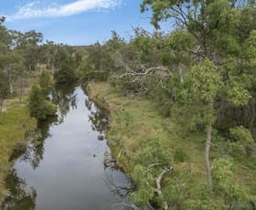
[[[85,106],[90,110],[89,120],[93,131],[103,132],[110,124],[110,117],[105,110],[98,109],[90,100],[85,100]]]

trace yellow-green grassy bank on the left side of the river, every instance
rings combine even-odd
[[[15,152],[24,151],[29,135],[37,128],[37,121],[30,117],[27,109],[27,95],[37,79],[31,76],[21,102],[18,97],[10,97],[4,102],[0,118],[0,206],[5,199],[5,177],[12,163],[10,157]]]

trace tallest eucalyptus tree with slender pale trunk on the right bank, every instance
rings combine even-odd
[[[205,121],[207,130],[205,162],[208,188],[211,190],[209,148],[219,94],[220,99],[228,100],[233,106],[241,106],[251,99],[251,79],[249,68],[245,67],[244,54],[250,51],[248,53],[253,59],[255,55],[253,56],[253,49],[244,50],[243,45],[252,42],[250,45],[255,46],[255,40],[253,33],[249,37],[241,29],[247,33],[255,29],[255,2],[144,0],[141,4],[142,12],[149,9],[153,12],[151,23],[156,28],[160,28],[161,21],[171,20],[171,23],[196,40],[189,53],[199,64],[187,74],[187,89],[190,97],[196,96],[190,102],[200,100],[201,104],[206,105],[205,109],[198,109],[200,114],[197,115],[197,120]],[[251,56],[247,59],[251,59]]]

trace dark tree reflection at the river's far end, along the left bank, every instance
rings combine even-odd
[[[52,100],[59,106],[59,123],[62,123],[70,108],[77,109],[77,95],[72,85],[58,86],[52,91]]]

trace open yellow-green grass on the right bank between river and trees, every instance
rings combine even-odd
[[[152,101],[141,97],[121,97],[106,83],[91,82],[87,91],[91,100],[110,112],[111,126],[106,135],[113,155],[125,173],[133,173],[133,157],[143,149],[140,140],[160,132],[174,151],[174,173],[179,182],[186,185],[186,196],[191,200],[199,199],[199,187],[206,183],[205,133],[185,134],[185,128],[177,119],[164,117]],[[212,145],[212,161],[221,155],[221,143],[224,145],[224,142]],[[235,158],[234,170],[235,182],[248,189],[249,197],[256,194],[253,160]]]

